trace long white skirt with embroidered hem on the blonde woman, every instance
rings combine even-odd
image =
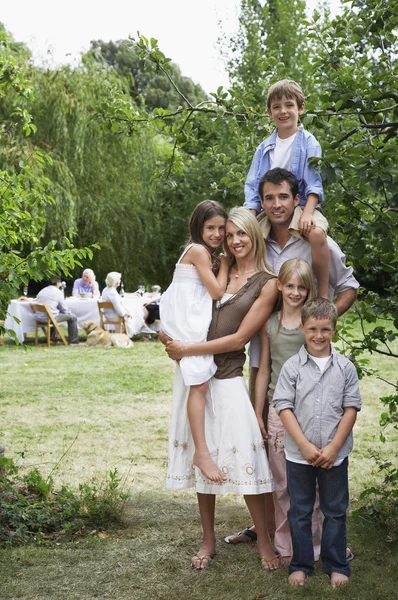
[[[263,494],[274,490],[265,442],[243,377],[209,381],[205,434],[210,454],[226,475],[214,483],[192,464],[195,447],[187,416],[189,387],[177,366],[174,378],[166,487],[196,487],[201,494]]]

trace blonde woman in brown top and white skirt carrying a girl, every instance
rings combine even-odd
[[[167,341],[174,360],[214,354],[217,372],[206,396],[205,433],[210,454],[226,480],[214,483],[192,465],[185,388],[176,369],[173,415],[169,439],[166,486],[196,486],[203,542],[192,566],[203,569],[215,554],[215,494],[243,494],[257,530],[258,551],[265,569],[279,566],[266,527],[264,494],[274,489],[265,444],[243,378],[245,345],[268,319],[278,297],[277,280],[267,269],[265,246],[256,218],[249,210],[234,208],[226,224],[225,250],[233,259],[223,298],[213,303],[207,342]]]

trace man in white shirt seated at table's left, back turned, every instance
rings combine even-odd
[[[58,323],[66,321],[68,324],[69,344],[78,344],[79,334],[77,330],[77,318],[67,307],[64,294],[59,289],[60,286],[61,278],[55,277],[53,282],[49,282],[49,285],[37,294],[36,302],[38,304],[47,304],[54,319]],[[38,322],[47,321],[47,315],[45,313],[37,312],[35,313],[35,319]]]

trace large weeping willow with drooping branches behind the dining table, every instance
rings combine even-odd
[[[164,149],[150,132],[120,135],[93,119],[94,104],[110,102],[111,90],[123,95],[125,85],[90,57],[77,69],[36,70],[32,113],[35,137],[53,159],[45,237],[73,229],[77,243],[97,243],[91,266],[100,284],[117,270],[132,289],[157,282],[164,255],[151,183]]]

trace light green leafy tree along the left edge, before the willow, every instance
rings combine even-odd
[[[51,157],[28,143],[36,127],[29,105],[32,86],[26,77],[28,53],[0,29],[0,314],[4,317],[12,297],[29,279],[55,273],[68,275],[92,249],[75,248],[68,237],[63,248],[51,239],[40,244],[45,208],[53,203],[48,193],[46,164]]]

